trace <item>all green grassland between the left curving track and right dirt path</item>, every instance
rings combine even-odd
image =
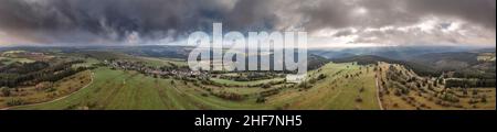
[[[15,109],[379,109],[373,73],[367,70],[370,69],[364,66],[327,64],[309,73],[309,78],[327,76],[309,82],[310,88],[282,86],[278,94],[261,103],[257,102],[261,92],[275,88],[199,87],[190,81],[97,68],[95,81],[73,96]],[[235,92],[244,98],[228,100],[207,88],[214,94]]]

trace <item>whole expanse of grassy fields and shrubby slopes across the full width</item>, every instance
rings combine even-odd
[[[61,47],[62,48],[62,47]],[[135,47],[147,51],[146,47]],[[175,47],[180,48],[180,47]],[[161,50],[161,48],[156,48]],[[290,82],[278,72],[191,72],[181,48],[168,55],[128,53],[121,48],[38,50],[2,53],[0,109],[10,110],[495,110],[494,78],[461,78],[450,70],[420,75],[420,68],[380,57],[326,61],[313,57],[306,80]],[[65,52],[64,52],[65,51]],[[18,55],[23,53],[22,55]],[[13,54],[17,56],[12,56]],[[25,54],[38,54],[38,58]],[[40,55],[50,57],[40,57]],[[494,58],[495,58],[495,54]],[[173,57],[172,57],[173,56]],[[491,54],[478,57],[485,75]],[[489,57],[490,56],[490,57]],[[3,61],[8,59],[8,61]],[[29,61],[28,61],[29,59]],[[477,58],[475,58],[477,59]],[[51,62],[19,79],[13,69]],[[74,62],[74,63],[71,63]],[[478,62],[478,61],[475,61]],[[56,68],[60,64],[65,68]],[[405,64],[405,65],[404,65]],[[17,67],[13,67],[17,66]],[[472,67],[466,66],[465,67]],[[475,66],[476,67],[476,66]],[[461,68],[468,69],[468,68]],[[495,70],[495,68],[494,68]],[[456,70],[457,72],[457,70]],[[38,74],[36,74],[38,73]],[[479,76],[479,75],[476,75]],[[24,77],[25,78],[25,77]],[[459,79],[457,79],[459,78]],[[22,81],[21,81],[22,80]],[[463,86],[456,80],[465,80]],[[466,80],[474,80],[469,85]],[[482,85],[494,80],[494,86]],[[10,84],[9,84],[10,82]],[[18,84],[13,84],[18,82]],[[473,82],[470,82],[473,84]],[[479,84],[479,85],[478,85]],[[448,87],[447,87],[448,86]],[[7,90],[6,90],[7,89]]]

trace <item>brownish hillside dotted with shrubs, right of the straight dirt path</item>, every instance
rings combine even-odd
[[[380,97],[385,109],[490,109],[494,88],[445,88],[443,78],[421,77],[402,65],[379,65]]]

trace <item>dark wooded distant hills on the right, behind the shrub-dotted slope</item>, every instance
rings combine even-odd
[[[406,61],[391,59],[376,55],[358,55],[343,58],[334,58],[331,61],[335,63],[357,62],[359,65],[377,64],[377,62],[401,64],[421,76],[441,76],[443,73],[451,72],[453,73],[451,74],[451,77],[456,78],[495,79],[495,61],[478,61],[477,57],[482,54],[487,55],[488,53],[429,53],[412,56]]]

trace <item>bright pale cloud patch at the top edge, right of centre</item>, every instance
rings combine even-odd
[[[405,11],[404,1],[400,0],[320,0],[299,10],[308,19],[304,25],[310,31],[322,28],[402,25],[420,19],[413,11]]]

